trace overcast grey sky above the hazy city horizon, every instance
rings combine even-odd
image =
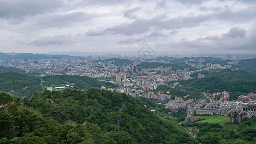
[[[256,0],[0,0],[0,52],[256,53]]]

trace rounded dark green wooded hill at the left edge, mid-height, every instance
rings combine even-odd
[[[11,96],[32,96],[42,90],[40,79],[35,76],[22,75],[16,72],[0,74],[0,92],[9,93]]]

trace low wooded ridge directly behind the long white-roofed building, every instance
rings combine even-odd
[[[55,86],[55,85],[63,85],[73,84],[73,86],[79,87],[80,89],[89,89],[89,88],[100,88],[102,85],[107,88],[116,88],[118,87],[116,84],[111,84],[108,82],[98,81],[97,79],[90,78],[88,76],[70,76],[70,75],[54,75],[54,76],[44,76],[41,77],[43,85]]]

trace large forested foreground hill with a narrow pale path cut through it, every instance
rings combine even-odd
[[[122,112],[119,113],[122,107]],[[46,91],[0,111],[0,141],[35,144],[198,144],[140,99],[106,90]],[[19,111],[25,108],[25,110]],[[37,109],[37,115],[26,109]],[[117,126],[117,116],[120,123]]]

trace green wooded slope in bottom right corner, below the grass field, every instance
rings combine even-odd
[[[183,126],[193,129],[201,144],[256,144],[256,117],[234,124],[198,121]]]

